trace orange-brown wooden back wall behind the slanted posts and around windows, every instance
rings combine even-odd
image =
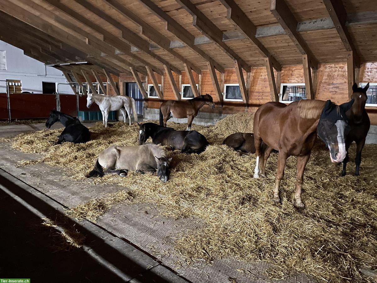
[[[221,90],[224,91],[224,83],[238,83],[237,76],[234,69],[226,69],[224,74],[224,82],[221,80],[221,74],[216,71],[218,75],[219,84]],[[161,76],[156,75],[158,83],[161,83]],[[195,82],[198,83],[198,74],[193,72]],[[275,73],[276,75],[276,73]],[[173,72],[176,85],[179,89],[179,75]],[[244,72],[245,82],[247,81],[247,74]],[[146,78],[140,75],[140,79],[145,82]],[[119,77],[119,86],[122,91],[124,82],[135,82],[132,76],[127,74],[121,74]],[[377,63],[364,63],[360,68],[360,82],[377,82]],[[152,82],[148,78],[148,83]],[[187,74],[182,72],[182,84],[188,84],[189,79]],[[295,66],[283,66],[281,74],[281,83],[304,83],[303,67],[300,65]],[[164,100],[175,99],[172,88],[170,86],[167,75],[164,75],[163,80]],[[202,71],[201,75],[201,94],[211,94],[215,104],[217,98],[212,86],[211,78],[208,71]],[[255,112],[256,109],[271,101],[270,88],[267,80],[267,72],[264,67],[253,68],[250,73],[250,88],[249,88],[249,107],[245,109],[242,102],[224,102],[223,107],[216,105],[215,109],[211,109],[208,106],[204,106],[202,111],[204,112],[220,112],[222,113],[237,113],[237,112]],[[319,65],[316,83],[316,99],[327,100],[331,99],[333,102],[340,104],[348,101],[348,89],[347,89],[347,65],[346,63],[337,64],[322,64]],[[161,102],[157,98],[148,99],[149,108],[159,108]],[[377,125],[377,108],[368,107],[367,111],[371,118],[372,125]]]

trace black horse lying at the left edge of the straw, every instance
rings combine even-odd
[[[59,111],[51,110],[50,116],[46,122],[46,128],[51,128],[51,126],[57,121],[60,121],[60,123],[66,127],[58,136],[59,139],[56,142],[58,145],[64,141],[70,141],[72,143],[86,143],[90,140],[90,132],[86,126],[81,124],[77,118]]]

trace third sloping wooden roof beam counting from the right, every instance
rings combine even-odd
[[[265,46],[255,37],[256,26],[250,21],[250,19],[245,15],[245,13],[239,8],[239,6],[234,2],[234,0],[220,0],[222,5],[227,8],[227,19],[236,27],[238,30],[244,34],[244,36],[253,43],[259,53],[263,57],[270,57],[272,65],[277,71],[281,70],[281,65],[277,60],[270,54],[270,52],[265,48]]]

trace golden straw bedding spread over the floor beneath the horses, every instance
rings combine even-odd
[[[222,145],[227,135],[252,132],[253,116],[235,114],[215,126],[192,129],[207,137],[210,146],[200,155],[168,151],[173,157],[167,183],[156,175],[129,172],[127,177],[106,175],[94,182],[115,183],[129,188],[120,195],[107,195],[71,208],[79,219],[96,221],[110,206],[121,201],[152,202],[162,214],[175,218],[197,217],[202,228],[177,235],[175,254],[179,265],[201,265],[216,258],[265,260],[276,268],[267,275],[281,278],[304,272],[323,282],[365,282],[360,268],[377,269],[377,161],[376,145],[363,150],[361,176],[354,177],[353,162],[348,175],[331,163],[328,151],[318,143],[305,171],[302,198],[307,209],[294,207],[296,158],[287,160],[281,184],[282,205],[274,205],[272,188],[277,155],[267,163],[267,178],[253,178],[254,155],[242,155]],[[185,124],[168,123],[175,129]],[[66,166],[76,180],[92,169],[98,154],[110,145],[137,145],[138,126],[118,122],[105,129],[90,128],[86,144],[52,145],[61,130],[21,134],[12,146],[24,152],[41,153],[40,160]],[[351,146],[351,161],[355,146]]]

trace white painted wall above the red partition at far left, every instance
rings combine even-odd
[[[6,71],[0,70],[0,93],[6,92],[2,80],[21,80],[22,91],[42,93],[42,82],[67,83],[58,69],[44,65],[23,54],[23,50],[0,40],[0,51],[6,51]],[[73,94],[69,85],[59,85],[59,93]]]

